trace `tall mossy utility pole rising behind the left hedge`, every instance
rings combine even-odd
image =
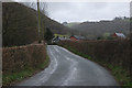
[[[40,0],[37,0],[37,25],[38,25],[38,43],[41,43],[41,13],[40,13]]]

